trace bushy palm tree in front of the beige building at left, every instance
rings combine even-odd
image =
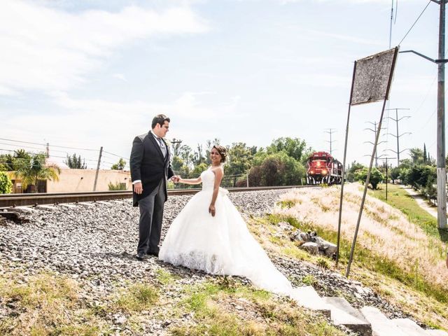
[[[23,165],[20,165],[15,171],[15,177],[22,180],[22,188],[34,186],[36,193],[39,180],[59,181],[59,174],[61,174],[61,169],[57,165],[45,164],[45,154],[43,153],[29,157],[27,162],[23,162]]]

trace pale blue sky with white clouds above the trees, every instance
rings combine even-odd
[[[103,147],[109,169],[164,113],[167,138],[192,148],[297,137],[330,151],[331,129],[342,161],[353,62],[389,48],[392,2],[391,46],[426,8],[400,50],[436,59],[439,6],[426,0],[2,0],[0,153],[48,143],[52,161],[77,153],[95,168]],[[381,107],[351,108],[347,163],[370,161]],[[423,144],[436,156],[434,63],[400,54],[386,108],[410,117],[400,158]],[[378,155],[396,158],[388,116]]]

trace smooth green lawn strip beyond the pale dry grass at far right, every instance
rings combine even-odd
[[[448,231],[439,230],[437,228],[437,218],[421,209],[406,190],[400,188],[400,186],[388,184],[386,200],[386,185],[379,184],[378,188],[377,190],[368,190],[368,194],[400,210],[407,216],[409,222],[418,225],[427,235],[438,237],[442,241],[448,241]]]

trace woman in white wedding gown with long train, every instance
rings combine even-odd
[[[209,274],[245,276],[258,288],[289,295],[290,282],[252,237],[228,191],[220,188],[226,149],[214,146],[210,157],[211,167],[199,178],[179,179],[186,184],[202,182],[202,191],[172,222],[160,247],[160,260]]]

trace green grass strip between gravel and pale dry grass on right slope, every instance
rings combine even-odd
[[[300,221],[297,221],[297,218],[292,216],[279,216],[270,214],[268,215],[267,219],[271,223],[279,223],[281,221],[285,221],[302,231],[315,231],[319,237],[327,241],[337,241],[337,232],[332,230],[325,230],[321,227],[313,225],[312,223],[301,223]],[[340,239],[339,262],[342,265],[347,264],[349,260],[350,250],[351,241],[343,238]],[[402,267],[400,267],[398,262],[389,260],[388,258],[384,258],[384,256],[377,255],[369,249],[360,246],[360,244],[356,245],[355,253],[356,260],[354,262],[356,263],[356,265],[366,267],[373,272],[377,272],[379,274],[388,276],[391,279],[398,280],[406,286],[414,288],[414,290],[418,290],[420,293],[433,297],[438,302],[448,303],[447,290],[437,283],[430,283],[426,279],[424,279],[424,274],[418,272],[418,267],[414,267],[413,272],[406,271],[405,269],[402,269]]]

